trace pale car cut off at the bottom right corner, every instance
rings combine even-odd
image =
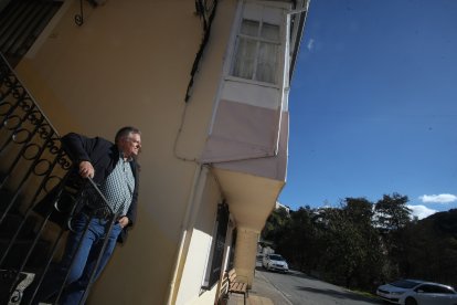
[[[417,280],[381,285],[376,294],[384,301],[402,305],[457,305],[457,293],[453,287]]]

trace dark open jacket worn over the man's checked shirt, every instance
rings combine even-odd
[[[68,154],[72,161],[75,164],[74,171],[70,172],[70,181],[79,180],[82,181],[82,178],[78,176],[78,165],[81,161],[89,161],[92,166],[94,167],[95,175],[94,175],[94,182],[97,185],[100,185],[113,171],[116,164],[119,160],[119,150],[117,146],[104,138],[95,137],[95,138],[87,138],[85,136],[78,135],[78,134],[67,134],[64,137],[62,137],[62,145],[65,150],[65,152]],[[129,219],[129,223],[127,227],[131,227],[136,221],[137,215],[137,201],[138,201],[138,185],[139,185],[139,177],[138,177],[138,164],[136,160],[130,162],[131,171],[135,177],[135,190],[132,194],[132,200],[130,203],[130,207],[127,211],[127,218]],[[88,185],[86,185],[88,186]],[[57,194],[56,189],[51,190],[49,196],[46,196],[41,204],[39,203],[38,212],[43,214],[43,209],[40,208],[40,206],[47,206],[54,204],[55,197]],[[77,214],[82,209],[84,209],[85,202],[79,202],[78,206],[74,208],[73,214]],[[36,210],[36,209],[35,209]],[[40,212],[41,211],[41,212]],[[53,218],[51,217],[53,220]],[[54,220],[55,221],[55,220]],[[55,221],[59,222],[59,221]],[[63,223],[60,223],[61,225]],[[118,242],[124,242],[127,238],[127,227],[124,228],[123,232],[119,235]]]

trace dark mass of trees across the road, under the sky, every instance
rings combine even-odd
[[[308,274],[373,291],[384,281],[415,277],[457,285],[457,209],[411,220],[408,198],[373,203],[346,198],[339,208],[276,210],[263,236]]]

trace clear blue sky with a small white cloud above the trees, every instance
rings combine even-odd
[[[311,0],[289,111],[283,204],[457,208],[457,1]]]

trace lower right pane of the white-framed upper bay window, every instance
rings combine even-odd
[[[258,50],[256,80],[266,83],[276,83],[278,46],[274,43],[262,42]]]

